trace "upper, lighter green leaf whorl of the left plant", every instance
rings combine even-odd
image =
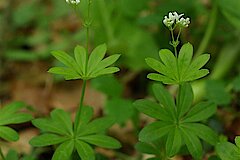
[[[75,59],[63,51],[53,51],[52,55],[66,67],[53,67],[48,72],[63,75],[66,80],[88,80],[118,72],[119,68],[109,66],[116,62],[120,55],[115,54],[103,59],[106,51],[105,44],[99,45],[93,50],[89,59],[85,48],[82,46],[75,47]]]

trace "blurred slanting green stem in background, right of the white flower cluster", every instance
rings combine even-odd
[[[213,9],[211,11],[211,15],[209,17],[209,23],[208,23],[208,26],[207,26],[207,29],[206,29],[206,32],[204,34],[204,37],[198,47],[198,50],[195,54],[195,56],[199,56],[201,55],[207,48],[208,44],[209,44],[209,41],[212,37],[212,34],[213,34],[213,31],[214,31],[214,28],[216,26],[216,21],[217,21],[217,13],[218,13],[218,10],[217,10],[217,5],[214,4],[213,6]]]

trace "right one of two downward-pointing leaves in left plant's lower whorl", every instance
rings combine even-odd
[[[81,159],[95,160],[95,154],[91,146],[80,140],[75,141],[75,147]]]

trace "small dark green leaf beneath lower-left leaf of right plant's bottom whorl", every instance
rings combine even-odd
[[[137,142],[135,145],[135,148],[142,152],[142,153],[147,153],[147,154],[159,154],[159,150],[156,149],[152,144],[146,143],[146,142]]]

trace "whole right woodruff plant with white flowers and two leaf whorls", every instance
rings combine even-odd
[[[177,84],[178,93],[175,101],[162,84],[156,83],[152,89],[157,101],[135,101],[134,105],[140,112],[157,119],[141,130],[140,142],[136,148],[144,153],[152,150],[151,154],[156,157],[150,159],[163,160],[175,156],[186,145],[193,158],[200,160],[203,154],[200,139],[211,145],[218,142],[217,134],[202,123],[216,112],[216,105],[200,102],[192,106],[194,95],[190,81],[209,73],[207,69],[201,68],[208,62],[210,55],[202,54],[193,59],[193,46],[190,43],[185,43],[177,52],[181,31],[189,26],[189,18],[184,18],[183,14],[179,15],[177,12],[170,12],[168,17],[165,16],[163,23],[170,30],[170,45],[174,48],[174,54],[168,49],[162,49],[159,51],[160,61],[147,58],[146,63],[158,72],[150,73],[147,77],[163,84]],[[174,31],[178,31],[176,38]],[[161,151],[156,149],[159,141],[164,141],[165,145]]]

